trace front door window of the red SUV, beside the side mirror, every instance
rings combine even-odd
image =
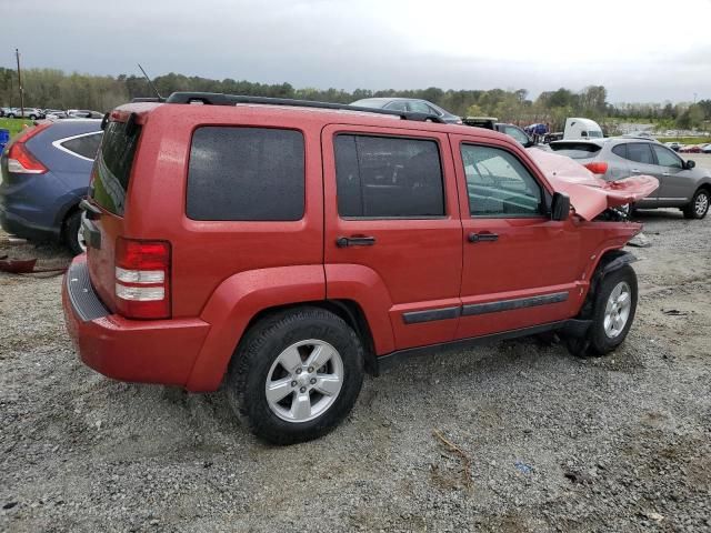
[[[472,217],[541,214],[541,188],[511,153],[490,147],[461,148]]]

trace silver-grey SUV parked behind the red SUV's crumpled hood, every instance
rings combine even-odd
[[[711,170],[697,168],[673,150],[644,139],[608,138],[555,141],[550,148],[568,155],[607,181],[648,174],[659,189],[637,202],[634,209],[679,208],[688,219],[703,219],[711,200]]]

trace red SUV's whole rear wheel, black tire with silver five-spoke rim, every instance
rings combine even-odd
[[[293,444],[324,435],[351,411],[363,382],[363,349],[339,316],[319,308],[258,322],[227,376],[230,405],[258,438]]]

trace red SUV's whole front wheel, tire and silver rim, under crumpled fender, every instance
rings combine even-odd
[[[602,279],[595,294],[589,350],[604,355],[627,338],[637,312],[637,274],[629,264]]]

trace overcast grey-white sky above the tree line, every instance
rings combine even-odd
[[[0,66],[353,90],[711,98],[711,0],[0,0]],[[8,23],[8,21],[13,21]]]

